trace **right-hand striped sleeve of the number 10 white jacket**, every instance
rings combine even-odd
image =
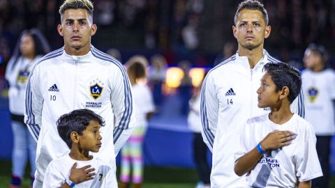
[[[114,112],[114,152],[115,156],[124,146],[135,127],[135,114],[131,83],[122,65],[114,75],[114,88],[111,95]]]

